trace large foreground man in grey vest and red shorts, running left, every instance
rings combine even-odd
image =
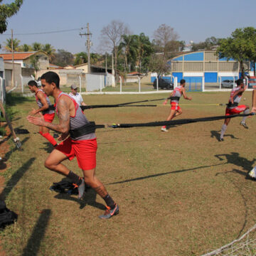
[[[107,210],[103,215],[100,215],[101,219],[108,219],[117,215],[119,206],[95,176],[97,151],[95,124],[88,122],[78,103],[72,97],[60,91],[60,78],[56,73],[49,71],[43,74],[41,82],[46,95],[53,96],[55,99],[55,110],[59,117],[59,123],[52,124],[46,122],[43,117],[34,116],[28,116],[28,122],[60,132],[59,140],[63,140],[46,159],[46,168],[70,178],[78,187],[79,199],[85,192],[85,183],[93,188],[107,204]],[[65,159],[72,160],[75,156],[84,178],[74,174],[62,164]]]

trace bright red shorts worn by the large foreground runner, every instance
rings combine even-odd
[[[75,156],[80,169],[86,171],[96,167],[97,139],[75,141],[70,137],[55,147],[58,151],[68,156],[71,161]]]

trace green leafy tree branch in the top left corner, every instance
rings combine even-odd
[[[0,0],[0,3],[2,0]],[[23,0],[15,0],[11,4],[1,4],[0,5],[0,33],[4,33],[7,29],[7,18],[10,18],[18,12],[23,4]]]

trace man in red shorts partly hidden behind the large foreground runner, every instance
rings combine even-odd
[[[43,90],[38,88],[38,84],[34,80],[28,82],[28,88],[31,92],[35,93],[36,103],[39,107],[37,110],[32,110],[29,112],[29,114],[38,114],[41,112],[46,122],[53,122],[55,112],[54,110],[49,109],[50,100],[47,95],[43,92]],[[45,137],[48,142],[53,144],[53,146],[57,146],[57,142],[53,136],[50,135],[49,129],[47,127],[39,127],[39,133]]]

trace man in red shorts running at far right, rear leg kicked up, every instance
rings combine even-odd
[[[245,91],[245,85],[242,81],[242,79],[238,79],[237,80],[237,87],[233,88],[233,90],[230,93],[230,99],[228,101],[226,110],[225,110],[225,115],[229,116],[230,114],[239,114],[240,112],[244,112],[245,114],[249,114],[250,113],[250,108],[247,105],[238,105],[241,97],[242,97],[242,93]],[[247,125],[245,124],[245,119],[247,117],[242,117],[242,122],[240,122],[240,124],[242,125],[242,127],[244,127],[245,129],[248,129]],[[228,124],[230,122],[230,118],[226,118],[224,121],[223,126],[221,127],[221,131],[220,131],[220,142],[223,142],[223,137],[225,134],[225,131],[228,127]]]

